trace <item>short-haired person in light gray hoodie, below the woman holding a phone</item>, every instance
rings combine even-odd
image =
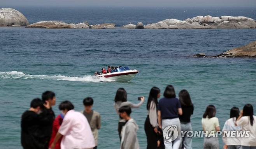
[[[120,149],[139,149],[139,141],[137,138],[137,130],[139,126],[135,120],[130,117],[132,110],[129,106],[123,106],[119,108],[120,116],[125,119],[126,124],[121,131],[121,144]]]

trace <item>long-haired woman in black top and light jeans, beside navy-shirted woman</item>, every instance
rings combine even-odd
[[[192,131],[190,117],[193,114],[194,105],[191,102],[191,98],[186,89],[183,89],[179,92],[179,100],[181,102],[181,109],[183,112],[183,114],[181,116],[179,115],[179,119],[181,121],[181,130],[183,132]],[[185,135],[182,138],[181,147],[182,148],[184,147],[185,149],[192,149],[192,137],[187,137],[187,135]]]

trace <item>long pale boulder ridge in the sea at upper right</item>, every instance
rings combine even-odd
[[[247,17],[232,16],[196,16],[185,20],[165,19],[144,26],[152,29],[210,29],[210,28],[256,28],[256,21]]]

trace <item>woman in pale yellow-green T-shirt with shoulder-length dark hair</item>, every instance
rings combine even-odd
[[[205,109],[202,118],[203,131],[206,132],[203,148],[204,149],[219,149],[219,140],[216,135],[216,131],[219,131],[219,119],[215,117],[216,108],[214,105],[208,105]]]

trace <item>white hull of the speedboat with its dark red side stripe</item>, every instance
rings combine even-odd
[[[97,77],[105,77],[112,81],[130,81],[135,75],[138,74],[138,70],[127,70],[124,72],[112,72],[109,74],[96,75]]]

